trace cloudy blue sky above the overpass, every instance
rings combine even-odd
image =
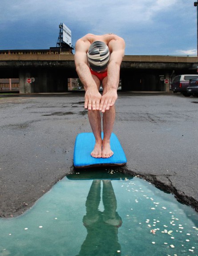
[[[194,1],[0,0],[0,50],[56,47],[64,23],[74,46],[87,33],[114,33],[125,55],[197,55]]]

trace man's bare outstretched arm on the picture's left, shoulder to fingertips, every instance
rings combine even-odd
[[[85,108],[88,110],[99,110],[101,94],[98,92],[88,66],[87,51],[90,43],[79,39],[76,43],[75,65],[77,74],[85,88]]]

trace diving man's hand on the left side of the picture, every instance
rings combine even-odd
[[[101,93],[97,89],[87,89],[85,93],[85,109],[99,110]]]

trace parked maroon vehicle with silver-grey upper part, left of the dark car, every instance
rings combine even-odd
[[[187,93],[187,87],[191,79],[198,79],[198,75],[179,75],[174,77],[171,82],[171,89],[174,93],[182,93],[184,96],[190,96]]]

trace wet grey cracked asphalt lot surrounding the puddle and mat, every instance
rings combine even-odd
[[[128,161],[121,171],[198,211],[196,103],[179,94],[119,93],[113,132]],[[75,138],[90,131],[83,93],[0,95],[0,217],[20,215],[70,173]]]

